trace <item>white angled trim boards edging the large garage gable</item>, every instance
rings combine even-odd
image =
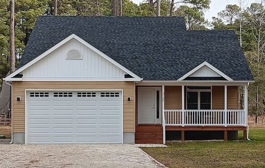
[[[48,55],[52,51],[55,51],[57,48],[59,48],[60,46],[64,45],[65,43],[67,43],[71,39],[75,39],[75,40],[81,42],[82,44],[84,44],[85,46],[87,46],[88,48],[90,48],[91,50],[93,50],[94,52],[96,52],[97,54],[99,54],[104,59],[108,60],[109,62],[111,62],[112,64],[114,64],[115,66],[117,66],[118,68],[120,68],[121,70],[123,70],[124,72],[126,72],[127,74],[133,76],[133,78],[125,78],[124,79],[125,81],[127,79],[128,80],[134,79],[134,81],[141,81],[141,80],[143,80],[141,77],[137,76],[135,73],[133,73],[130,70],[128,70],[127,68],[123,67],[121,64],[119,64],[118,62],[116,62],[115,60],[113,60],[112,58],[110,58],[108,55],[104,54],[103,52],[101,52],[100,50],[98,50],[97,48],[95,48],[94,46],[92,46],[91,44],[89,44],[88,42],[86,42],[85,40],[83,40],[82,38],[78,37],[75,34],[71,34],[70,36],[66,37],[64,40],[62,40],[61,42],[59,42],[56,45],[52,46],[50,49],[48,49],[45,52],[43,52],[42,54],[40,54],[38,57],[36,57],[32,61],[26,63],[24,66],[22,66],[21,68],[17,69],[15,72],[13,72],[10,75],[8,75],[6,77],[6,80],[7,81],[15,81],[15,80],[16,81],[19,81],[18,79],[12,78],[12,77],[15,76],[15,75],[17,75],[17,74],[19,74],[20,72],[22,72],[26,68],[32,66],[36,62],[40,61],[41,59],[43,59],[44,57],[46,57],[46,55]],[[20,79],[20,81],[21,81],[21,79]]]

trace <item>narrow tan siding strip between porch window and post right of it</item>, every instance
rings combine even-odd
[[[224,86],[213,86],[211,91],[211,108],[212,109],[224,109],[225,107],[225,89]]]

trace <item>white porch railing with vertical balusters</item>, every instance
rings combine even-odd
[[[164,110],[166,126],[246,126],[245,110]]]

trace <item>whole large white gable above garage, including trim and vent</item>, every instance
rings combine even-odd
[[[16,73],[15,73],[16,72]],[[107,55],[72,34],[19,68],[7,80],[23,81],[139,81]],[[17,75],[22,78],[12,78]]]

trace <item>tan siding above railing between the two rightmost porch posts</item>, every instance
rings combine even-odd
[[[227,109],[237,109],[239,102],[237,86],[227,86]]]

